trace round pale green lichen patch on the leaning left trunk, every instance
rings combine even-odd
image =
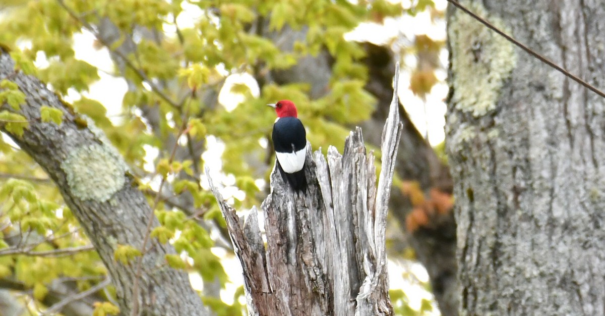
[[[80,200],[105,202],[125,182],[126,164],[110,145],[82,146],[61,163],[71,194]]]

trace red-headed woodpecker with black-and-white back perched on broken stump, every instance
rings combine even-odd
[[[296,192],[307,191],[304,160],[307,156],[307,133],[297,118],[296,106],[290,100],[267,104],[275,108],[277,118],[273,124],[273,148],[281,176]]]

